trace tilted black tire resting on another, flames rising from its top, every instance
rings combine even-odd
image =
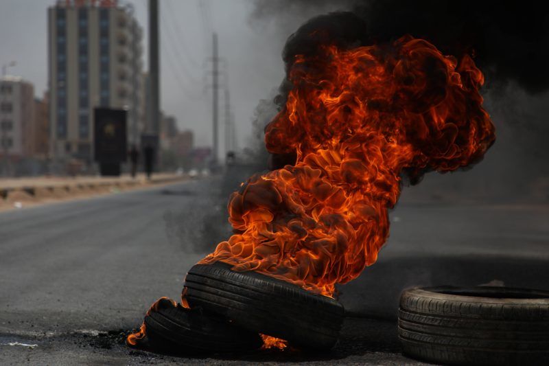
[[[344,310],[338,301],[223,262],[197,264],[185,278],[191,308],[215,312],[250,331],[296,347],[329,350],[338,341]]]

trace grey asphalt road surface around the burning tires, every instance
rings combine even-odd
[[[186,271],[226,236],[219,199],[226,192],[209,178],[0,213],[0,364],[416,363],[401,356],[395,335],[403,288],[549,289],[547,205],[418,204],[403,196],[377,264],[340,287],[354,317],[333,352],[182,360],[130,350],[124,334],[157,298],[178,299]],[[9,345],[18,342],[36,346]]]

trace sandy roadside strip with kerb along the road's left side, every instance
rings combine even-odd
[[[0,211],[115,193],[121,190],[138,189],[186,179],[189,179],[187,174],[168,173],[153,174],[150,180],[146,178],[145,174],[138,174],[135,178],[124,174],[119,177],[36,176],[0,179]]]

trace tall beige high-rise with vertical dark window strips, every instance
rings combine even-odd
[[[143,30],[132,5],[57,1],[48,9],[50,150],[54,159],[93,157],[93,108],[128,110],[128,142],[145,126]]]

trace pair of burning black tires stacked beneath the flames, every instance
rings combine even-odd
[[[266,334],[302,349],[334,347],[344,315],[338,301],[231,267],[192,267],[183,288],[189,308],[159,302],[145,317],[150,343],[180,352],[238,352],[260,347],[259,334]]]

